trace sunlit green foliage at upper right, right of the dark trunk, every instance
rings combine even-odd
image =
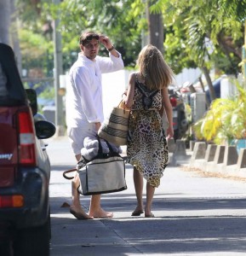
[[[163,13],[166,28],[167,61],[175,60],[177,66],[190,67],[196,63],[198,67],[209,67],[211,63],[221,64],[224,72],[237,73],[241,61],[243,19],[246,17],[246,2],[231,0],[159,0],[152,6],[155,12]],[[173,38],[173,40],[169,39]],[[205,42],[210,42],[210,46]],[[174,47],[176,42],[176,48]],[[180,42],[180,43],[179,43]],[[175,52],[176,51],[176,52]],[[221,58],[219,61],[216,59]],[[181,61],[181,59],[183,59]],[[225,62],[226,60],[226,62]],[[226,63],[226,65],[225,65]],[[192,67],[191,66],[191,67]]]

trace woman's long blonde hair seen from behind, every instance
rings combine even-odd
[[[140,76],[150,90],[161,90],[173,81],[174,73],[164,61],[162,53],[152,44],[141,49],[137,65]]]

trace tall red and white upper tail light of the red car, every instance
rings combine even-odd
[[[18,113],[19,125],[19,163],[25,166],[36,166],[35,133],[30,111]]]

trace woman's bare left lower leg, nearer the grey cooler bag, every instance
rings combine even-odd
[[[141,173],[134,167],[134,188],[137,197],[137,207],[132,213],[133,216],[139,216],[140,213],[143,213],[143,185],[143,177]]]

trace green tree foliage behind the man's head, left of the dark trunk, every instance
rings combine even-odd
[[[135,10],[134,13],[131,12],[132,5],[133,1],[129,0],[64,0],[59,6],[46,4],[43,9],[46,16],[60,18],[59,29],[66,60],[79,51],[78,39],[81,32],[89,30],[111,38],[112,43],[122,53],[125,65],[134,67],[141,43],[139,26],[144,25],[142,20],[138,22],[141,14]],[[133,15],[135,20],[131,18]],[[101,54],[108,55],[106,49],[102,49]],[[69,66],[65,70],[67,68]]]

